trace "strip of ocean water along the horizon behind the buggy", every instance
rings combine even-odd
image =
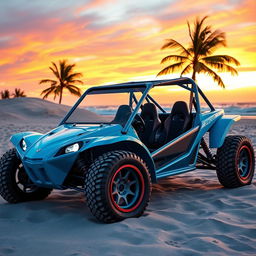
[[[227,115],[241,115],[242,117],[256,118],[256,102],[255,103],[215,103],[213,104],[215,109],[224,109]],[[100,114],[100,115],[115,115],[118,106],[91,106],[87,107],[88,110]],[[163,108],[167,112],[171,112],[170,105],[163,105]],[[206,111],[208,108],[202,106],[202,111]]]

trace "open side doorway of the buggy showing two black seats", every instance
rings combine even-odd
[[[146,129],[139,136],[150,151],[192,128],[196,115],[193,99],[191,85],[157,85],[149,91],[141,111]]]

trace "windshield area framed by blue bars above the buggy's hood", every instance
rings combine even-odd
[[[89,91],[65,123],[125,125],[145,87],[104,88]]]

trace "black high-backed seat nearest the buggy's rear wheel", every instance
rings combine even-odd
[[[164,122],[165,143],[177,138],[189,129],[190,114],[184,101],[177,101],[172,107],[171,114]]]

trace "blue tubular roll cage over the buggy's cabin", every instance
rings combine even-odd
[[[67,115],[64,117],[64,119],[60,122],[59,125],[62,125],[66,122],[66,120],[70,117],[70,115],[74,112],[74,110],[79,106],[79,104],[82,102],[82,100],[85,98],[88,94],[104,94],[106,92],[108,93],[117,93],[121,91],[129,92],[130,90],[130,98],[129,98],[129,105],[132,106],[132,103],[134,102],[136,104],[136,107],[134,108],[134,111],[132,112],[130,118],[128,119],[126,125],[123,127],[122,133],[127,133],[127,130],[129,129],[130,125],[132,124],[133,119],[135,118],[139,108],[141,108],[141,105],[144,100],[147,102],[152,102],[156,105],[157,108],[159,108],[160,111],[163,113],[166,113],[166,111],[161,107],[157,101],[149,95],[149,91],[156,87],[156,86],[171,86],[171,85],[178,85],[182,87],[185,90],[190,91],[190,107],[192,108],[192,104],[195,107],[196,112],[200,112],[200,103],[199,103],[199,94],[204,99],[206,104],[209,106],[211,111],[214,111],[214,107],[210,103],[210,101],[207,99],[207,97],[204,95],[202,90],[198,87],[198,85],[195,83],[194,80],[191,78],[177,78],[177,79],[165,79],[165,80],[152,80],[152,81],[139,81],[139,82],[126,82],[126,83],[120,83],[120,84],[113,84],[113,85],[103,85],[103,86],[97,86],[97,87],[91,87],[89,88],[76,102],[76,104],[70,109],[70,111],[67,113]],[[191,87],[189,86],[191,85]],[[137,98],[134,95],[134,92],[141,91],[142,97],[138,101]],[[196,115],[196,119],[199,118],[199,115]]]

